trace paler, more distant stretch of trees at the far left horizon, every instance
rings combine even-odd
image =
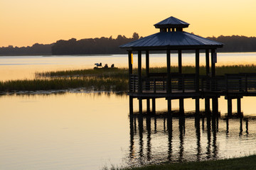
[[[0,55],[51,55],[51,47],[53,44],[43,45],[34,44],[31,47],[0,47]]]

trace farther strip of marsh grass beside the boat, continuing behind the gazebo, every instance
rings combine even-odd
[[[137,73],[137,68],[133,69],[133,72]],[[149,69],[149,72],[159,73],[166,72],[166,67],[153,67]],[[171,72],[178,72],[178,67],[171,67]],[[183,66],[182,72],[185,74],[195,73],[196,68],[193,66]],[[201,66],[199,69],[201,75],[206,74],[206,67]],[[228,65],[220,66],[215,68],[216,75],[223,74],[237,74],[237,73],[256,73],[256,65]],[[122,68],[113,68],[113,69],[78,69],[78,70],[67,70],[67,71],[58,71],[58,72],[37,72],[36,77],[104,77],[104,78],[120,78],[120,79],[129,79],[128,77],[129,70]],[[146,69],[142,69],[142,74],[146,74]]]

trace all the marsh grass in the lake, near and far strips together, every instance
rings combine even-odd
[[[192,66],[184,66],[183,73],[195,73]],[[137,73],[137,68],[133,69]],[[166,67],[150,68],[149,72],[166,72]],[[178,72],[178,67],[171,67],[171,72]],[[256,73],[256,65],[233,65],[216,67],[216,75],[236,74],[242,72]],[[142,69],[146,74],[146,69]],[[206,74],[206,67],[200,67],[200,74]],[[0,81],[1,92],[12,91],[48,91],[62,89],[84,88],[97,91],[127,91],[129,82],[128,69],[78,69],[58,72],[36,72],[36,79],[33,80],[11,80]]]

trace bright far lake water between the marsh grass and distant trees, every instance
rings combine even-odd
[[[11,56],[0,57],[1,80],[33,79],[35,72],[47,72],[67,69],[91,69],[95,63],[114,64],[115,67],[128,67],[127,55],[73,55],[73,56]],[[205,65],[205,54],[200,54],[200,64]],[[142,67],[146,57],[142,55]],[[256,52],[218,53],[216,66],[230,64],[254,64]],[[150,67],[165,67],[165,54],[151,54]],[[183,65],[194,65],[195,54],[183,54]],[[178,55],[171,54],[171,65],[178,65]],[[134,67],[137,67],[137,55],[134,54]]]

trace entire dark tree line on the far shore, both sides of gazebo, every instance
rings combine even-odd
[[[141,37],[142,38],[142,37]],[[133,40],[138,40],[139,34],[133,33],[132,38],[118,35],[117,38],[86,38],[76,40],[58,40],[53,44],[34,44],[31,47],[0,47],[0,55],[105,55],[105,54],[125,54],[126,50],[119,48]],[[219,36],[208,37],[210,40],[223,42],[223,48],[218,52],[256,52],[256,37],[245,36]]]

